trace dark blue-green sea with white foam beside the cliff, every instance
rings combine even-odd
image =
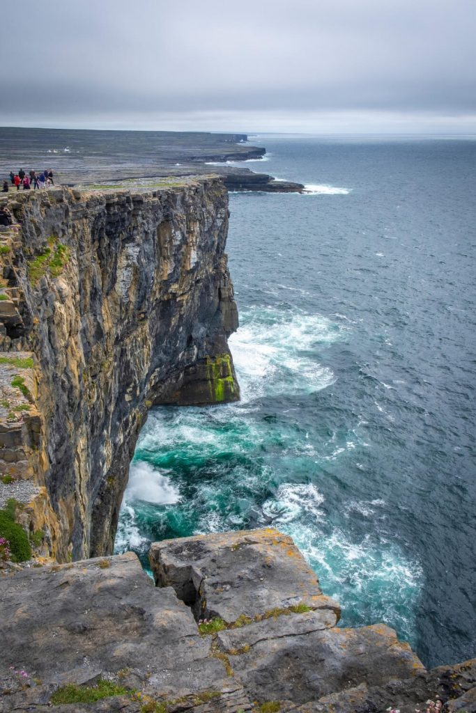
[[[251,140],[314,193],[231,195],[243,400],[150,414],[117,549],[273,519],[343,625],[475,656],[476,142]]]

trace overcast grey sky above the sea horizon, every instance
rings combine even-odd
[[[476,132],[476,0],[17,0],[0,125]]]

